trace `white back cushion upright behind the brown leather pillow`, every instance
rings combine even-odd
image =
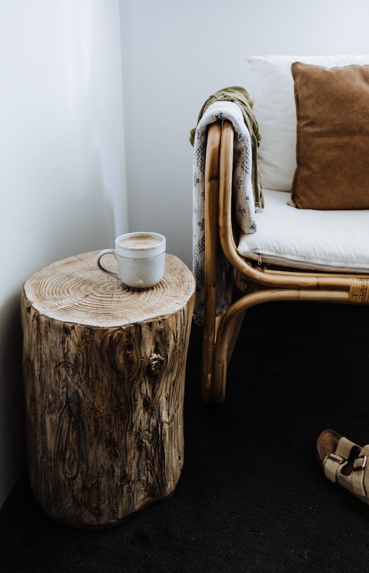
[[[369,64],[369,56],[250,56],[253,112],[262,140],[257,153],[264,189],[291,191],[296,169],[292,62],[332,68]]]

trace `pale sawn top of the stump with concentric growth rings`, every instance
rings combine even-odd
[[[131,289],[96,265],[98,251],[55,262],[23,285],[38,312],[55,320],[112,327],[177,312],[193,295],[195,278],[176,256],[166,254],[163,279],[149,289]],[[81,262],[83,265],[81,265]],[[113,257],[106,268],[116,270]]]

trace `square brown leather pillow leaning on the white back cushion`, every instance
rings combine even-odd
[[[297,116],[291,199],[299,209],[369,209],[369,65],[291,66]]]

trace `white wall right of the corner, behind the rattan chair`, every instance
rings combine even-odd
[[[367,0],[121,0],[130,230],[192,268],[189,131],[217,89],[252,93],[245,58],[367,54]]]

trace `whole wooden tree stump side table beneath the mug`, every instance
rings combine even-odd
[[[177,485],[195,297],[173,255],[144,291],[96,256],[34,273],[21,305],[31,488],[50,517],[86,528],[117,525]]]

